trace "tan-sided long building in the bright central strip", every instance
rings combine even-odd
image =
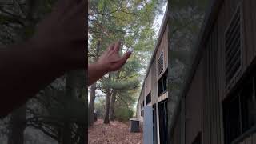
[[[165,16],[137,103],[144,143],[167,143],[168,26]]]

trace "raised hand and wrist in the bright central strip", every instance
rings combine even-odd
[[[128,51],[120,57],[119,50],[120,42],[115,42],[108,47],[97,62],[88,65],[89,86],[99,78],[102,78],[104,74],[119,70],[126,64],[127,59],[130,58],[131,52]]]

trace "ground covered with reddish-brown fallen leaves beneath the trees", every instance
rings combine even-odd
[[[130,126],[123,122],[104,124],[102,119],[94,122],[88,130],[89,144],[142,144],[142,133],[130,133]]]

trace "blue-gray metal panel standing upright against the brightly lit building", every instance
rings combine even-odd
[[[143,144],[153,144],[153,109],[144,107]]]

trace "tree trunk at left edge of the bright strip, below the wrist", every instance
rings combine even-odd
[[[94,101],[96,94],[96,82],[90,86],[90,102],[89,102],[89,126],[94,124]]]

